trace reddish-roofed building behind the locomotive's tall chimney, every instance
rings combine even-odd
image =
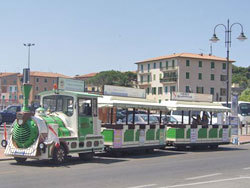
[[[39,71],[30,72],[30,84],[32,85],[32,89],[30,91],[29,104],[38,106],[40,104],[40,96],[38,94],[43,91],[52,90],[54,84],[58,83],[58,78],[71,78],[71,77],[52,72],[39,72]],[[17,90],[18,90],[19,103],[23,103],[23,94],[21,89],[23,84],[22,80],[23,80],[23,75],[22,74],[18,75]]]

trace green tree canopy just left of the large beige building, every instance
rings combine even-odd
[[[117,85],[117,86],[126,86],[132,87],[134,82],[137,80],[137,75],[134,72],[120,72],[120,71],[102,71],[96,74],[94,77],[87,80],[87,83],[104,86],[104,85]]]

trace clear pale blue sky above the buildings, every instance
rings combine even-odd
[[[172,53],[210,53],[217,24],[232,27],[230,59],[250,66],[248,0],[0,0],[0,72],[68,76],[105,70],[133,71],[135,62]],[[225,29],[218,27],[213,55],[226,57]]]

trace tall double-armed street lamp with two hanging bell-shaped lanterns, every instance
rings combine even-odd
[[[225,26],[224,24],[217,24],[214,27],[214,34],[212,38],[210,39],[210,41],[212,42],[218,42],[220,39],[216,36],[215,30],[218,26],[223,26],[225,28],[225,46],[227,48],[227,101],[226,101],[227,107],[228,107],[228,98],[229,98],[229,48],[231,47],[231,32],[232,32],[232,27],[234,25],[239,25],[241,27],[241,33],[239,37],[237,37],[237,39],[240,41],[246,40],[247,37],[244,35],[243,26],[238,22],[229,25],[229,19],[227,20],[227,26]]]

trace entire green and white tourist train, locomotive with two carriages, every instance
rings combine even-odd
[[[23,109],[17,114],[10,138],[2,141],[5,155],[13,156],[17,162],[32,158],[62,163],[74,153],[89,159],[104,151],[230,143],[228,125],[168,123],[165,115],[179,107],[142,98],[54,89],[41,93],[41,107],[33,114],[28,108],[30,90],[31,85],[23,85]],[[186,106],[181,110],[193,109]],[[211,112],[215,107],[200,110]],[[228,110],[217,105],[215,111]],[[153,114],[158,114],[158,118]]]

